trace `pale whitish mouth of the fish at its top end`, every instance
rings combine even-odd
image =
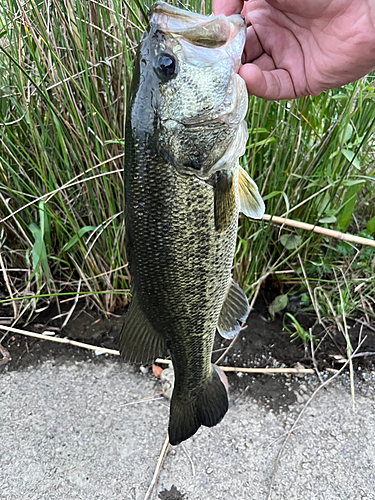
[[[238,14],[203,16],[162,1],[151,6],[150,14],[150,24],[156,24],[160,31],[182,37],[200,47],[221,47],[246,28],[245,19]]]

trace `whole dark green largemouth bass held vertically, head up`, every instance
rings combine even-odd
[[[249,313],[231,277],[241,211],[261,218],[258,188],[239,165],[248,96],[237,74],[246,24],[158,1],[138,46],[125,125],[125,231],[131,302],[122,357],[147,363],[169,352],[175,384],[169,442],[228,410],[211,364]]]

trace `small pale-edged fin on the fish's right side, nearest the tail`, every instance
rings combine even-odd
[[[241,324],[249,314],[249,303],[243,290],[233,280],[230,281],[217,329],[225,339],[232,339],[241,330]]]

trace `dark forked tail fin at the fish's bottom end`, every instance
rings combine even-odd
[[[181,401],[175,393],[171,400],[169,442],[179,444],[197,432],[201,425],[213,427],[228,410],[228,393],[215,368],[203,392],[189,403]]]

